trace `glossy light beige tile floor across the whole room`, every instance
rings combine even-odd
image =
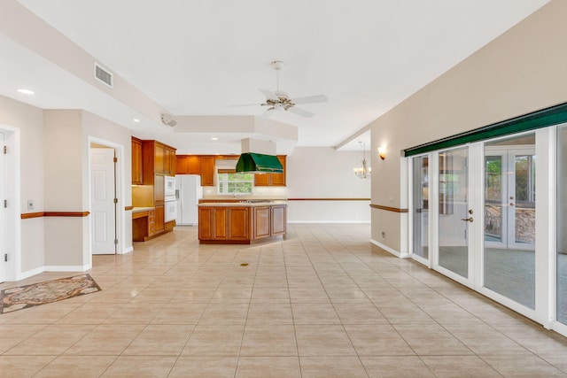
[[[175,228],[95,256],[102,291],[0,315],[0,376],[567,376],[563,336],[381,251],[369,225],[288,231],[226,246]]]

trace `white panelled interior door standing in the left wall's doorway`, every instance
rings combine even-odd
[[[92,253],[116,253],[114,149],[90,149]]]

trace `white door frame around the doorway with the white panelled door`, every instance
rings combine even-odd
[[[124,214],[124,198],[125,198],[125,188],[124,188],[124,146],[118,143],[113,143],[106,141],[105,139],[97,138],[96,136],[87,137],[87,153],[89,166],[89,212],[92,211],[92,168],[90,161],[90,144],[97,143],[114,149],[116,158],[118,162],[116,163],[116,196],[118,197],[118,203],[116,204],[116,235],[118,235],[118,244],[116,247],[116,253],[122,254],[126,253],[126,216]],[[89,264],[92,266],[92,217],[89,216]]]

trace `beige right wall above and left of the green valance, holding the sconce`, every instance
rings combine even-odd
[[[372,122],[373,149],[388,149],[373,177],[372,203],[407,208],[400,150],[565,102],[565,14],[567,2],[552,1]],[[372,239],[400,251],[403,233],[385,241],[379,233],[407,222],[395,212],[373,212]]]

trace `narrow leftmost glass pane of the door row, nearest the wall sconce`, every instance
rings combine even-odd
[[[414,251],[420,258],[429,258],[428,220],[429,220],[429,180],[428,157],[413,159],[414,174]]]

